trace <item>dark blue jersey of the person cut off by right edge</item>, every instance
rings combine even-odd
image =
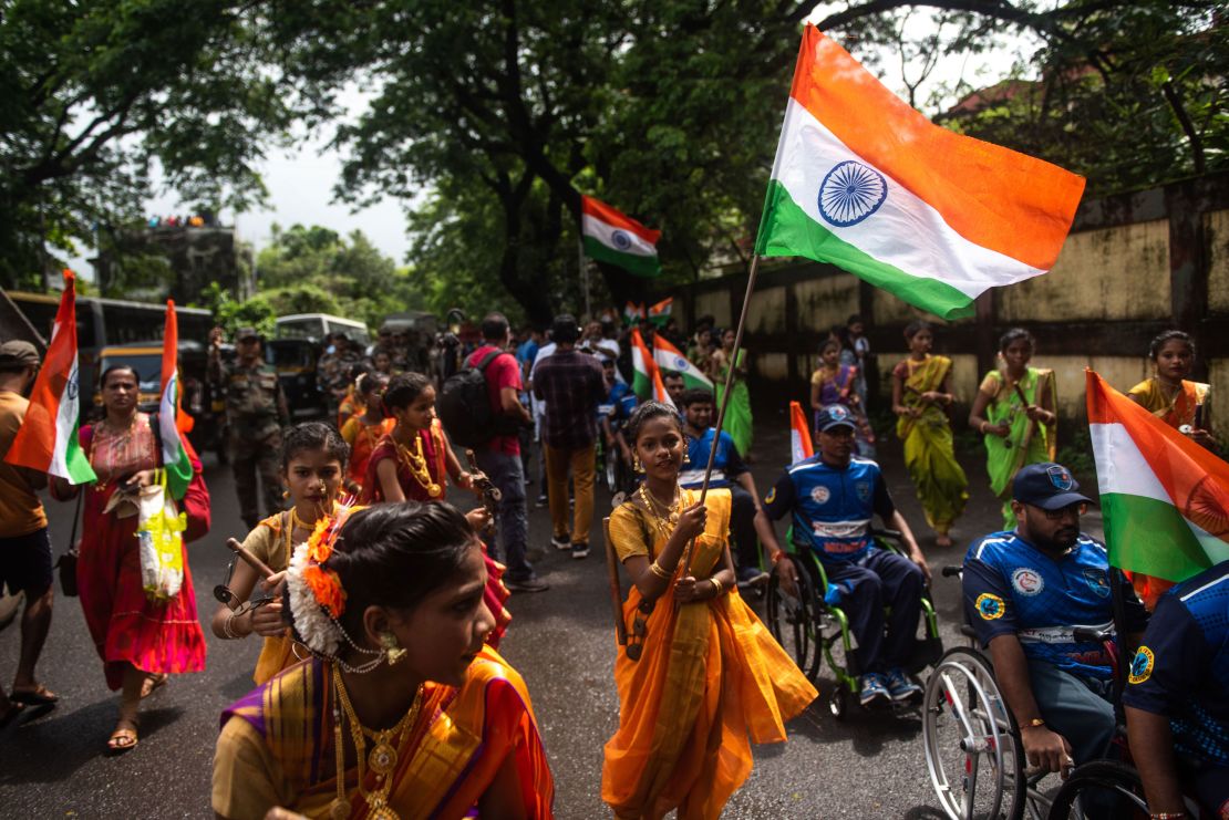
[[[1229,561],[1160,599],[1122,702],[1169,717],[1177,749],[1229,767]]]

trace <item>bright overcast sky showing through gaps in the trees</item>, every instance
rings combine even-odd
[[[828,9],[839,9],[843,4],[820,4],[812,20],[821,20]],[[911,15],[906,34],[911,38],[924,37],[934,31],[933,12],[919,10]],[[930,80],[919,92],[919,104],[924,103],[936,83],[955,83],[960,77],[973,86],[991,85],[1004,76],[1011,61],[1029,44],[1011,41],[1007,48],[975,58],[940,58]],[[857,49],[854,49],[857,54]],[[911,76],[916,76],[917,66],[912,66]],[[880,68],[875,70],[887,87],[905,96],[901,81],[898,58],[885,55]],[[349,117],[358,117],[366,107],[366,97],[354,91],[343,96],[349,107]],[[946,101],[949,104],[955,99]],[[784,109],[785,101],[782,99]],[[925,110],[933,114],[934,112]],[[406,236],[406,217],[403,204],[387,199],[374,207],[351,212],[349,206],[333,203],[333,185],[340,177],[342,157],[327,147],[328,134],[305,140],[296,150],[274,151],[261,166],[265,187],[269,190],[269,206],[264,210],[238,214],[224,212],[225,222],[234,222],[238,238],[252,242],[257,248],[269,243],[270,227],[274,222],[289,227],[295,222],[302,225],[322,225],[339,233],[349,233],[360,228],[383,253],[392,257],[398,265],[407,264],[406,253],[409,238]],[[769,151],[766,147],[766,151]],[[766,155],[767,156],[767,155]],[[175,195],[162,195],[150,201],[150,215],[170,215],[182,212],[182,206]]]

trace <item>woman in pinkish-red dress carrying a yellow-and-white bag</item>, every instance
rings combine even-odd
[[[183,584],[177,595],[155,600],[141,581],[135,507],[113,497],[154,484],[160,466],[160,443],[151,417],[136,410],[136,373],[125,366],[102,374],[106,417],[80,431],[81,449],[97,481],[71,486],[57,479],[53,495],[60,501],[84,492],[81,541],[77,545],[77,587],[81,609],[103,662],[107,686],[122,690],[119,721],[107,748],[128,751],[136,745],[141,697],[166,683],[171,674],[205,668],[205,637],[197,620],[197,599],[183,552]],[[209,530],[209,492],[193,458],[193,480],[179,508],[187,513],[187,544]]]

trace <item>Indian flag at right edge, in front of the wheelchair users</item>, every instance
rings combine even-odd
[[[1229,559],[1229,464],[1088,371],[1110,563],[1175,583]]]

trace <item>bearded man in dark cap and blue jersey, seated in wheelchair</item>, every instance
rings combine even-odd
[[[1080,533],[1089,500],[1067,468],[1030,464],[1011,485],[1015,530],[968,549],[965,614],[989,646],[994,678],[1032,766],[1066,772],[1104,757],[1115,733],[1111,658],[1074,629],[1113,629],[1109,555]],[[1122,581],[1132,646],[1148,615]]]

